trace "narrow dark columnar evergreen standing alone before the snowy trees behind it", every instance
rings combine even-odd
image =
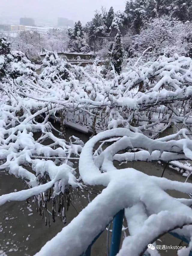
[[[115,71],[120,74],[122,70],[123,62],[123,47],[121,42],[121,34],[117,33],[115,37],[115,42],[113,44],[112,53],[111,53],[111,65],[114,66]]]

